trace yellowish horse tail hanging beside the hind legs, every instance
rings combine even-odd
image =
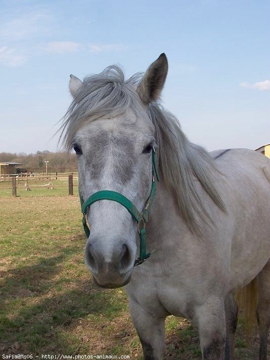
[[[256,308],[258,303],[257,278],[236,293],[236,302],[245,318],[246,343],[257,328]]]

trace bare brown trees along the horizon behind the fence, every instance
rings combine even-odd
[[[75,172],[78,169],[77,158],[75,154],[69,154],[64,152],[50,152],[37,151],[35,154],[12,154],[12,153],[0,153],[0,162],[19,162],[23,165],[17,167],[24,171],[42,172],[46,171],[46,164],[48,162],[48,172]]]

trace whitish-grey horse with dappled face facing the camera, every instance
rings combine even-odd
[[[74,98],[62,135],[78,157],[79,191],[91,225],[85,264],[100,286],[125,285],[147,360],[163,358],[169,314],[197,326],[203,359],[232,360],[238,312],[233,294],[256,278],[259,358],[266,360],[270,161],[251,150],[208,153],[192,144],[159,104],[167,70],[161,54],[144,76],[128,80],[117,66],[83,81],[71,75]],[[128,206],[143,209],[154,185],[149,217],[136,220]],[[140,226],[134,219],[142,220]],[[146,230],[147,248],[155,252],[133,267],[138,229]],[[144,241],[141,236],[141,248]]]

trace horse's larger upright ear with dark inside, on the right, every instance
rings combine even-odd
[[[142,81],[138,85],[137,92],[145,105],[158,99],[165,83],[167,73],[168,60],[163,53],[149,66]]]

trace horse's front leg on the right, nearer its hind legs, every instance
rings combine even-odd
[[[224,299],[209,298],[195,308],[203,360],[224,360],[226,317]]]

